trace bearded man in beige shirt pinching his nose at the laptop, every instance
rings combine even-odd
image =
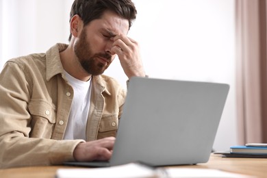
[[[109,160],[126,92],[102,75],[118,55],[144,77],[127,37],[131,0],[75,0],[70,43],[8,61],[0,75],[0,167]]]

